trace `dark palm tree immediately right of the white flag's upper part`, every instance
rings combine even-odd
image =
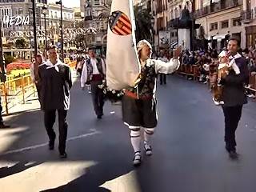
[[[142,6],[134,6],[135,23],[136,23],[136,40],[137,42],[146,39],[150,41],[152,39],[152,26],[151,26],[151,14],[147,9],[143,9]]]

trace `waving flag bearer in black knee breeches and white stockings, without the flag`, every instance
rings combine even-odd
[[[171,74],[178,70],[180,48],[175,51],[170,62],[150,59],[152,47],[149,42],[142,40],[137,46],[141,72],[134,87],[126,89],[122,98],[122,118],[130,128],[130,141],[134,148],[134,166],[141,164],[140,149],[141,129],[144,130],[144,150],[146,155],[152,154],[150,138],[157,126],[157,106],[155,98],[156,77],[158,73]]]

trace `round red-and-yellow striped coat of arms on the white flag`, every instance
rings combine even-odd
[[[132,26],[130,23],[130,19],[126,16],[126,14],[121,11],[114,11],[110,15],[110,30],[114,34],[118,35],[129,35],[132,34]]]

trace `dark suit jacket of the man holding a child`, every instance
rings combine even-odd
[[[247,103],[244,85],[248,78],[249,71],[246,65],[246,58],[235,59],[240,69],[240,74],[235,74],[234,70],[222,79],[224,106],[242,106]]]

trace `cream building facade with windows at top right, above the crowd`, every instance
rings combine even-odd
[[[246,47],[242,10],[242,0],[195,1],[195,21],[205,31],[211,48],[222,50],[230,37],[238,38],[241,47]]]

